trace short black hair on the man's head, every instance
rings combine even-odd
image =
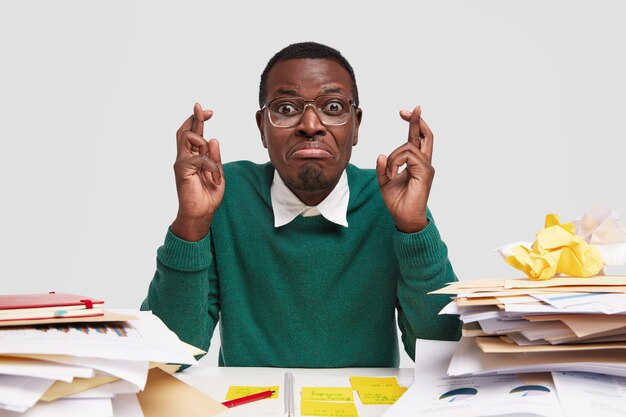
[[[289,46],[278,51],[272,59],[270,59],[261,74],[261,83],[259,84],[259,106],[262,108],[265,105],[265,99],[267,98],[267,75],[270,70],[279,62],[288,61],[290,59],[329,59],[335,61],[341,65],[352,79],[352,95],[354,96],[354,104],[359,106],[359,91],[356,87],[356,77],[354,76],[354,70],[341,52],[331,48],[330,46],[322,45],[317,42],[300,42],[292,43]]]

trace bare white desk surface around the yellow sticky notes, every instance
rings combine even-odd
[[[278,385],[279,398],[234,407],[220,416],[283,416],[285,411],[283,384],[286,372],[291,372],[294,376],[294,411],[298,416],[300,415],[300,390],[303,386],[350,387],[350,376],[395,376],[400,385],[410,386],[413,383],[414,370],[409,368],[231,368],[197,365],[186,369],[178,377],[220,402],[224,401],[226,392],[232,385]],[[387,405],[362,405],[358,395],[355,395],[354,402],[360,417],[381,416],[389,408]]]

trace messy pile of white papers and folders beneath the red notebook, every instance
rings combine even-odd
[[[190,348],[150,312],[0,321],[0,417],[148,416],[163,380],[183,384],[159,367],[194,364]]]

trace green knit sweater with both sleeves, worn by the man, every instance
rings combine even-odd
[[[323,216],[274,227],[270,163],[224,164],[226,192],[211,231],[186,242],[168,231],[141,308],[208,350],[220,323],[221,366],[396,367],[402,342],[457,339],[455,316],[429,291],[456,280],[429,217],[397,230],[374,170],[348,165],[345,228]]]

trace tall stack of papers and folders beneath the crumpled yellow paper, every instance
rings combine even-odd
[[[588,371],[626,376],[626,276],[479,280],[456,294],[463,338],[449,375]]]

